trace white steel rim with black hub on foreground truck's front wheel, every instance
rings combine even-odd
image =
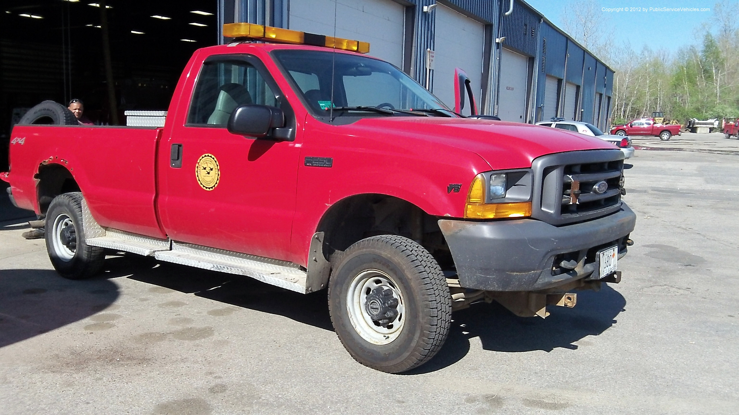
[[[406,322],[403,294],[380,270],[365,270],[354,277],[347,290],[347,312],[357,333],[377,345],[392,343]]]

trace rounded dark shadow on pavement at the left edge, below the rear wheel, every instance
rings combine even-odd
[[[0,270],[0,347],[88,318],[118,298],[105,279],[71,281],[53,270]]]

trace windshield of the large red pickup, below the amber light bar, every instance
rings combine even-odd
[[[449,112],[423,86],[384,61],[315,50],[282,49],[273,55],[295,81],[299,89],[296,92],[304,97],[315,114],[321,116],[327,115],[332,105],[334,109],[343,109],[335,110],[335,116],[408,115],[408,111],[423,109]],[[366,111],[375,108],[400,111]],[[358,114],[357,110],[364,112]],[[454,116],[451,112],[444,115]]]

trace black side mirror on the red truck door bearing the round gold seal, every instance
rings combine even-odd
[[[254,138],[277,138],[285,140],[284,133],[292,135],[292,128],[285,127],[285,113],[282,109],[266,105],[242,105],[228,117],[226,126],[231,134]],[[290,131],[280,131],[290,130]]]

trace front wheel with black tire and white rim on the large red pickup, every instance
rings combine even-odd
[[[403,236],[373,236],[349,247],[331,275],[328,298],[344,348],[387,373],[426,363],[452,322],[452,296],[439,264]]]

